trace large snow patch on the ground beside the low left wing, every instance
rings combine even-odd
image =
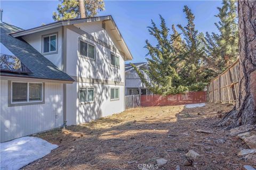
[[[20,169],[23,166],[44,157],[58,145],[41,138],[23,137],[1,143],[1,169]]]

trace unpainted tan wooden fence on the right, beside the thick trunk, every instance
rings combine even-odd
[[[234,104],[238,97],[239,60],[218,77],[211,80],[207,87],[207,100],[210,103]]]

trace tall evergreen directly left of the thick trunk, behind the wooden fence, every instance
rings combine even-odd
[[[207,67],[214,75],[222,73],[228,66],[234,63],[238,57],[238,23],[237,5],[234,0],[223,0],[222,7],[218,7],[220,19],[215,23],[219,33],[206,32],[204,40],[207,57]]]

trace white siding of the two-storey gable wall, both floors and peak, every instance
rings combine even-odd
[[[96,38],[111,45],[113,41],[101,28],[101,22],[76,25]],[[79,57],[79,38],[95,46],[95,60]],[[75,77],[124,82],[124,60],[119,53],[120,67],[111,66],[109,48],[101,46],[78,33],[67,29],[67,73]],[[79,86],[94,87],[94,103],[79,105]],[[110,101],[110,87],[119,88],[119,100]],[[74,82],[67,84],[67,124],[74,125],[124,111],[124,86]]]

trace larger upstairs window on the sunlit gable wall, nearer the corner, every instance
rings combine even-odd
[[[95,47],[84,41],[79,41],[79,52],[81,56],[89,57],[95,59]]]

